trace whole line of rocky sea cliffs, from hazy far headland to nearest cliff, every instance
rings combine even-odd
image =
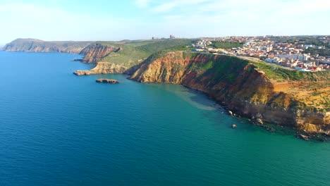
[[[118,43],[16,39],[6,44],[4,50],[79,53],[84,57],[73,61],[96,66],[77,70],[75,75],[124,73],[138,82],[180,84],[207,94],[231,111],[230,115],[249,118],[255,125],[274,123],[295,128],[297,137],[304,140],[330,135],[329,99],[326,100],[330,96],[330,73],[274,72],[258,61],[185,51],[151,53],[138,63],[130,63],[130,58],[126,58],[129,64],[106,61],[107,56],[125,51]]]

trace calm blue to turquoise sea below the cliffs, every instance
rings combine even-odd
[[[75,76],[92,68],[78,57],[0,52],[1,186],[330,185],[330,143],[267,132],[181,85]]]

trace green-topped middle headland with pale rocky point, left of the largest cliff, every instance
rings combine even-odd
[[[195,42],[193,39],[95,42],[80,54],[85,55],[82,61],[97,63],[97,66],[92,70],[78,70],[75,74],[124,73],[157,51],[187,49],[186,46],[190,46],[193,42]]]

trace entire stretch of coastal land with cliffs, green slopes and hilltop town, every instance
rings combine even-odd
[[[75,75],[125,73],[138,82],[181,84],[204,92],[231,115],[244,116],[255,125],[285,125],[305,140],[324,140],[330,135],[329,40],[329,36],[120,42],[16,39],[3,50],[81,54],[84,57],[75,61],[97,65]],[[280,55],[286,56],[283,63],[265,62],[281,60]]]

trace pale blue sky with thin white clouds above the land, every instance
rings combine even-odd
[[[0,0],[0,45],[16,38],[330,35],[330,0]]]

